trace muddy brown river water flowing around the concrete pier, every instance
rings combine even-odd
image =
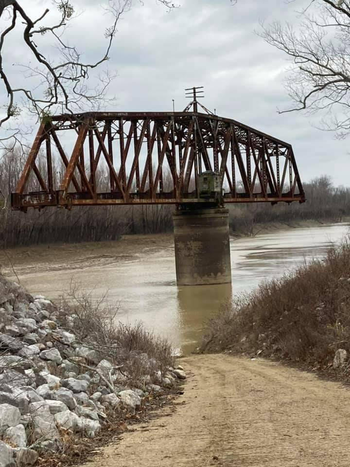
[[[12,249],[0,253],[0,264],[17,280],[10,258],[21,284],[51,299],[69,290],[71,281],[92,290],[96,299],[106,293],[106,301],[118,306],[118,320],[141,321],[187,354],[198,346],[204,323],[232,295],[323,256],[348,229],[349,224],[332,224],[232,238],[232,284],[227,285],[177,287],[171,235]]]

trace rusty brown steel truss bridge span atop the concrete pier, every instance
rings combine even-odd
[[[98,112],[45,119],[14,209],[205,203],[198,175],[222,176],[225,203],[304,202],[290,144],[198,112]]]

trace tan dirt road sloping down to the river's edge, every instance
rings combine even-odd
[[[264,360],[181,364],[190,376],[175,413],[124,434],[90,467],[350,466],[350,390]]]

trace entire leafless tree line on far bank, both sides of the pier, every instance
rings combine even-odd
[[[24,156],[10,151],[0,159],[0,243],[4,248],[56,242],[82,242],[116,240],[123,234],[157,234],[173,228],[174,206],[97,206],[66,209],[46,208],[29,210],[27,214],[11,211],[10,194],[16,189],[24,164]],[[45,174],[43,159],[39,170]],[[55,167],[55,184],[60,179],[62,167]],[[164,190],[170,190],[170,174],[164,174]],[[101,168],[97,183],[108,190],[109,177]],[[30,180],[28,189],[38,188]],[[327,176],[304,184],[307,202],[271,206],[262,204],[229,205],[232,233],[255,235],[259,224],[317,220],[339,222],[350,216],[350,189],[333,187]]]

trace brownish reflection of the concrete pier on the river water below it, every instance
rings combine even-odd
[[[177,287],[180,343],[184,353],[201,340],[203,325],[232,297],[231,284]]]

